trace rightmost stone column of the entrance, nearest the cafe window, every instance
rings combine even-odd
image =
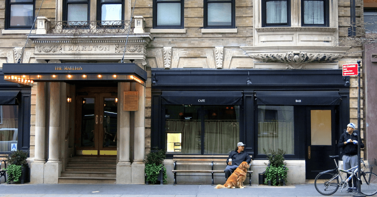
[[[138,111],[135,111],[134,133],[134,160],[132,163],[132,183],[144,183],[144,152],[145,152],[145,87],[135,84],[135,90],[139,92]]]

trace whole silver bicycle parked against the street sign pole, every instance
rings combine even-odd
[[[317,191],[322,195],[331,195],[334,194],[338,189],[339,186],[341,187],[340,192],[342,189],[348,187],[348,181],[352,181],[352,177],[356,176],[357,170],[359,166],[354,166],[348,170],[342,170],[338,168],[338,164],[336,159],[339,156],[330,156],[331,159],[334,159],[336,168],[334,170],[327,170],[319,173],[314,180],[314,186],[316,187]],[[377,175],[372,173],[373,166],[376,166],[376,159],[369,159],[368,162],[364,162],[363,158],[360,160],[360,163],[364,165],[366,169],[369,169],[369,172],[365,172],[363,169],[360,169],[361,176],[358,181],[360,181],[360,192],[365,195],[374,195],[377,193]],[[341,173],[350,174],[349,178],[345,178],[343,180]],[[340,181],[339,181],[340,180]]]

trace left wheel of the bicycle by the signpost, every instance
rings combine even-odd
[[[334,194],[339,188],[339,179],[338,177],[333,177],[333,173],[323,173],[318,174],[314,180],[314,186],[317,191],[322,195],[331,195]]]

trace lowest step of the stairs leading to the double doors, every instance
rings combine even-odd
[[[110,177],[59,177],[58,183],[115,184],[116,179]]]

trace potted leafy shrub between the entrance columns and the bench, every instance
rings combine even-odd
[[[166,168],[163,165],[166,158],[166,150],[153,148],[148,154],[145,162],[146,184],[150,181],[155,184],[157,181],[167,182]]]

